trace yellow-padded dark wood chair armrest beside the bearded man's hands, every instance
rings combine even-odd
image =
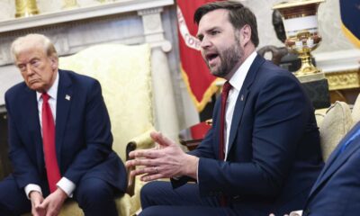
[[[155,131],[154,128],[147,130],[146,132],[142,133],[138,137],[135,137],[130,140],[128,145],[126,145],[126,160],[129,160],[129,153],[135,149],[144,149],[144,148],[152,148],[154,146],[154,141],[150,137],[150,132]],[[128,188],[126,193],[130,196],[134,194],[135,189],[135,177],[130,176],[130,172],[134,169],[134,167],[130,167],[128,172]]]

